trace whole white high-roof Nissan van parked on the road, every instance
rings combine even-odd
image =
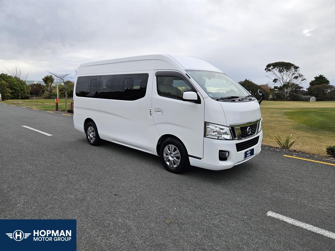
[[[174,173],[231,168],[261,151],[258,101],[202,60],[147,55],[81,64],[74,89],[74,127],[89,144],[158,155]]]

